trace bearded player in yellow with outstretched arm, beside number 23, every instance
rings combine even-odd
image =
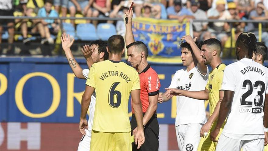
[[[205,90],[193,92],[180,89],[171,89],[171,94],[200,99],[200,101],[209,99],[210,118],[201,128],[200,136],[202,138],[199,142],[198,151],[214,151],[217,144],[210,140],[210,130],[213,130],[215,124],[217,123],[215,121],[217,121],[220,110],[220,102],[224,96],[224,91],[220,91],[220,88],[223,79],[224,68],[226,67],[220,59],[221,43],[215,38],[208,39],[203,42],[200,51],[199,49],[195,49],[196,46],[191,36],[187,35],[182,37],[182,39],[191,45],[195,55],[199,54],[203,57],[204,63],[206,65],[210,64],[212,71],[209,74],[209,79]],[[224,124],[220,129],[220,132],[223,130],[223,127]],[[220,134],[217,136],[217,138],[219,138]]]

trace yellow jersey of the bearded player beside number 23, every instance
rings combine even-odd
[[[210,116],[214,112],[220,99],[219,90],[221,88],[225,67],[226,65],[221,63],[209,74],[206,89],[209,90]]]

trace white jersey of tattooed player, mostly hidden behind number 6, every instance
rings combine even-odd
[[[87,79],[89,74],[89,69],[83,70],[83,76]],[[94,112],[95,112],[95,105],[96,105],[96,93],[93,92],[91,96],[91,101],[89,105],[89,118],[88,118],[88,130],[92,130],[93,125],[93,118],[94,118]]]

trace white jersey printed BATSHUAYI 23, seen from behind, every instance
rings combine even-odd
[[[244,58],[226,66],[221,89],[234,91],[234,97],[222,132],[225,136],[264,136],[263,106],[267,84],[268,69],[252,59]]]

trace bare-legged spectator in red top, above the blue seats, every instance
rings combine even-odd
[[[104,17],[109,16],[111,12],[111,0],[90,0],[89,3],[92,3],[92,17]],[[107,21],[112,23],[112,21]],[[97,27],[98,21],[93,20],[92,23]]]

